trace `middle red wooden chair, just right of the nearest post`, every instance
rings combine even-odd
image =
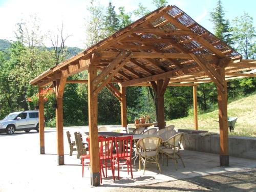
[[[100,157],[100,182],[102,183],[101,172],[103,177],[108,177],[107,168],[110,167],[112,176],[115,181],[115,169],[113,163],[113,137],[99,138],[99,157]],[[105,174],[104,175],[104,168]]]

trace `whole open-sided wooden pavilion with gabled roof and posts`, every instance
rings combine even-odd
[[[30,83],[38,91],[52,84],[56,93],[58,164],[64,164],[62,97],[66,83],[88,83],[91,184],[99,185],[97,129],[98,94],[108,88],[121,103],[121,122],[126,127],[127,86],[152,86],[157,94],[159,129],[164,127],[164,92],[167,86],[193,86],[195,127],[196,86],[214,82],[218,91],[220,165],[229,165],[226,80],[255,77],[254,60],[242,56],[196,23],[176,6],[161,7],[98,44],[40,74]],[[88,79],[67,77],[88,70]],[[113,86],[118,83],[120,91]],[[39,95],[40,153],[45,154],[44,101]]]

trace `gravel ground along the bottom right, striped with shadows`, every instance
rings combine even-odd
[[[256,168],[237,172],[194,177],[147,186],[116,188],[115,192],[125,191],[256,191]],[[108,190],[108,191],[113,191]]]

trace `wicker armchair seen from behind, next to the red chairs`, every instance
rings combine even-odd
[[[162,139],[160,137],[145,137],[137,142],[137,152],[139,153],[139,170],[141,162],[143,164],[143,175],[145,174],[146,164],[148,162],[156,163],[160,173],[162,173],[159,165],[159,145]]]

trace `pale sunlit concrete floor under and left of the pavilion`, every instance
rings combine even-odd
[[[256,167],[256,161],[230,157],[229,167],[219,166],[219,155],[194,151],[182,151],[186,167],[179,161],[178,170],[172,160],[164,166],[162,174],[155,164],[148,164],[145,175],[138,170],[138,161],[133,167],[134,179],[126,169],[120,172],[121,180],[113,181],[111,172],[103,179],[100,187],[90,187],[90,169],[85,169],[82,178],[80,160],[76,152],[69,156],[66,131],[88,131],[88,127],[65,127],[65,165],[57,165],[56,131],[46,129],[45,155],[39,155],[39,135],[37,132],[16,132],[14,135],[0,134],[0,191],[105,191],[116,187],[142,186],[179,179],[193,178],[236,172]],[[117,175],[117,173],[116,173]]]

